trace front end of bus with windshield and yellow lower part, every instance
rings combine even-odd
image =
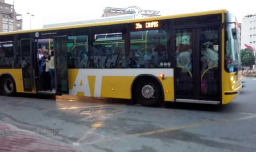
[[[232,101],[242,89],[240,31],[236,17],[230,13],[225,14],[224,33],[222,104],[227,104]]]

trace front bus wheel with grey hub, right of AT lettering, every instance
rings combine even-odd
[[[145,90],[148,90],[148,93]],[[134,84],[133,95],[137,103],[150,107],[158,106],[163,99],[162,88],[154,78],[140,78],[137,80]]]

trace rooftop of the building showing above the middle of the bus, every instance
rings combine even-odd
[[[105,8],[102,17],[118,16],[124,14],[141,14],[143,16],[152,17],[160,16],[160,11],[156,10],[142,10],[137,6],[130,6],[128,8]]]

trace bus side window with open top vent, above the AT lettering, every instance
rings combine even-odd
[[[112,30],[110,30],[112,31]],[[124,33],[95,33],[89,53],[90,68],[126,68]]]

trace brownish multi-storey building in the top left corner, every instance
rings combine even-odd
[[[22,30],[22,15],[14,10],[14,4],[0,0],[0,32]]]

